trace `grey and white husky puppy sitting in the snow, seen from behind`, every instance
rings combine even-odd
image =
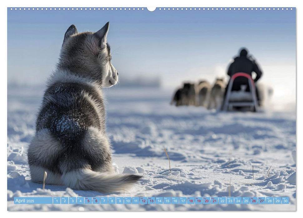
[[[141,178],[114,174],[105,134],[102,88],[118,82],[107,44],[109,22],[97,32],[78,33],[71,25],[64,36],[55,72],[47,81],[28,148],[32,182],[72,189],[115,192]]]

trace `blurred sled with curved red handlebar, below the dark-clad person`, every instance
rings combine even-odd
[[[246,77],[248,79],[248,84],[250,89],[249,92],[245,92],[244,90],[232,91],[233,82],[237,77]],[[258,101],[257,101],[255,83],[252,77],[247,73],[235,73],[230,78],[222,110],[230,111],[232,110],[233,107],[249,107],[251,111],[258,110]]]

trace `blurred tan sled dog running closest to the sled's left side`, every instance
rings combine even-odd
[[[216,79],[212,89],[210,90],[208,109],[219,109],[221,107],[224,98],[225,86],[223,78]]]

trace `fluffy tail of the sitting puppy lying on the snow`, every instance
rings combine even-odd
[[[95,172],[90,169],[79,169],[64,173],[61,179],[64,185],[72,189],[108,193],[126,190],[141,177],[131,174],[109,174]]]

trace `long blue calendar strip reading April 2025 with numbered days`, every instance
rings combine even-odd
[[[289,204],[289,197],[14,197],[14,204]]]

